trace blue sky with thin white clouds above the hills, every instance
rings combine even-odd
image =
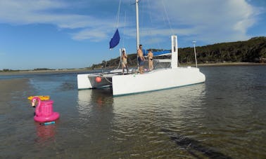
[[[0,69],[90,67],[136,52],[134,0],[0,0]],[[119,7],[120,6],[120,7]],[[120,8],[120,10],[118,9]],[[119,14],[118,14],[118,11]],[[264,0],[141,0],[140,43],[170,49],[266,36]],[[120,43],[109,50],[115,29]]]

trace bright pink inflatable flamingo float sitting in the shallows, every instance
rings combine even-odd
[[[32,105],[38,101],[38,105],[35,109],[34,120],[37,122],[47,122],[57,120],[59,118],[58,112],[53,112],[53,101],[42,101],[39,97],[32,98]]]

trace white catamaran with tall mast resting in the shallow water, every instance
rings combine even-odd
[[[137,48],[139,47],[139,11],[136,0]],[[196,67],[178,67],[177,36],[171,36],[171,66],[169,68],[153,69],[144,74],[134,72],[122,75],[121,71],[110,71],[102,74],[78,74],[77,88],[91,89],[110,86],[113,95],[130,95],[139,92],[177,88],[184,85],[204,83],[205,75]]]

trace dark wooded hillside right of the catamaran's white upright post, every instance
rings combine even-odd
[[[266,57],[266,37],[255,37],[248,41],[216,43],[210,46],[196,47],[197,59],[200,63],[215,62],[260,62]],[[190,55],[189,55],[190,53]],[[193,48],[181,48],[182,56],[193,56]],[[184,54],[184,55],[182,55]],[[186,58],[183,62],[191,62]]]

